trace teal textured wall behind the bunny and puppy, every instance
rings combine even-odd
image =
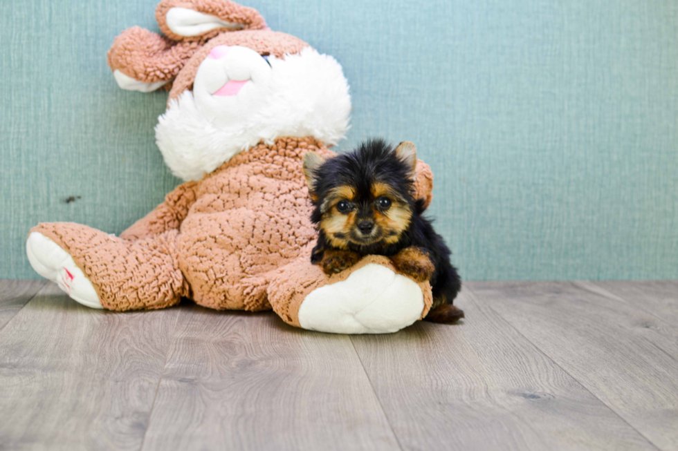
[[[353,127],[419,147],[466,279],[678,278],[678,2],[251,0],[344,66]],[[106,65],[152,0],[0,4],[1,278],[39,221],[120,233],[177,183],[166,94]],[[64,202],[80,196],[74,202]]]

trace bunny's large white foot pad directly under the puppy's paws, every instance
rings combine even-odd
[[[419,285],[370,263],[346,280],[311,291],[299,307],[304,329],[334,334],[387,334],[407,327],[424,308]]]

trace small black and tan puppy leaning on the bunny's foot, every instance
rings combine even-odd
[[[415,167],[411,142],[394,149],[370,140],[328,160],[306,153],[311,220],[318,227],[311,262],[334,274],[366,255],[387,256],[401,273],[430,280],[433,306],[425,319],[454,323],[464,318],[464,311],[452,305],[461,280],[450,263],[450,249],[422,216],[423,200],[414,199]]]

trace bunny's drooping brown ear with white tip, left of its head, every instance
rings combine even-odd
[[[108,63],[120,88],[148,93],[172,81],[201,47],[198,42],[174,42],[132,27],[113,41]]]

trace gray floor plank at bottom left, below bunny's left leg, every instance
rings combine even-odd
[[[177,309],[88,309],[49,284],[0,332],[0,448],[138,450]]]

